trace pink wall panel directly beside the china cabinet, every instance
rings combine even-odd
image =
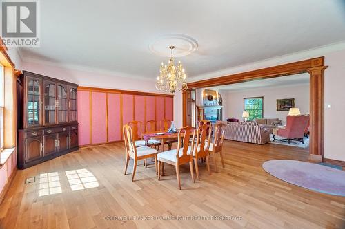
[[[78,141],[80,145],[91,144],[90,142],[90,92],[78,91]]]

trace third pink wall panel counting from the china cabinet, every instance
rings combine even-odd
[[[108,93],[108,141],[121,140],[121,94]]]

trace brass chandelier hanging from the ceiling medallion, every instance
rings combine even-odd
[[[181,61],[179,61],[177,67],[174,65],[174,58],[172,57],[172,50],[175,46],[169,46],[171,50],[171,58],[168,62],[168,66],[161,63],[160,74],[157,77],[156,88],[159,91],[170,91],[175,93],[175,90],[186,91],[187,76],[182,67]]]

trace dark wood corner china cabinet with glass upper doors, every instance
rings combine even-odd
[[[23,71],[19,101],[18,167],[28,168],[79,149],[77,86]],[[22,95],[22,96],[21,96]]]

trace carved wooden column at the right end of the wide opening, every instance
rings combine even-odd
[[[324,69],[326,68],[327,66],[308,68],[308,72],[311,75],[311,138],[309,151],[311,153],[311,160],[317,162],[322,162],[324,155]]]

